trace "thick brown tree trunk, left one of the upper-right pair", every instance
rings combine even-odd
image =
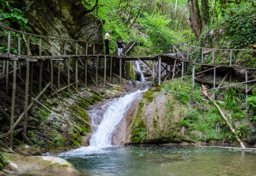
[[[190,10],[190,25],[194,35],[198,38],[202,28],[198,0],[188,0],[188,8]]]

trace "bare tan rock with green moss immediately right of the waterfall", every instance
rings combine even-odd
[[[120,121],[113,144],[181,142],[178,104],[165,92],[145,92]]]

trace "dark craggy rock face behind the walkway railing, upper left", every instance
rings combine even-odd
[[[102,43],[102,24],[104,21],[93,14],[86,14],[82,1],[22,0],[17,1],[16,6],[25,9],[28,26],[38,35]],[[42,39],[42,46],[43,52],[48,50],[51,53],[52,40]],[[78,42],[78,54],[85,53],[85,46],[86,43]],[[93,52],[92,46],[93,43],[89,43],[89,53]],[[37,49],[38,42],[33,43],[31,52],[38,52]],[[96,52],[100,52],[103,45],[96,44],[95,49]],[[68,41],[66,50],[67,54],[75,54],[75,42]],[[58,54],[64,54],[64,41],[55,40],[55,55]]]

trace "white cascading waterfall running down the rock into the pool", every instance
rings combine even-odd
[[[138,61],[136,61],[136,64],[140,72],[141,79],[144,82],[145,77]],[[135,92],[131,92],[124,97],[112,99],[111,101],[108,101],[106,104],[102,105],[100,108],[93,108],[93,110],[90,110],[88,112],[91,117],[91,124],[93,127],[93,135],[90,139],[90,146],[77,148],[67,153],[62,153],[60,155],[71,156],[77,154],[86,155],[90,153],[100,153],[104,152],[102,148],[112,146],[111,138],[114,130],[116,130],[116,126],[118,126],[127,110],[131,108],[131,104],[136,99],[141,98],[140,95],[142,95],[142,92],[147,91],[147,86],[141,86],[141,84],[144,83],[134,82],[134,84],[136,84],[136,87],[140,87]]]

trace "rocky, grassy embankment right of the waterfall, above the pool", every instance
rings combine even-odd
[[[165,142],[235,143],[235,137],[221,120],[218,110],[188,81],[165,81],[152,87],[127,117],[127,144]],[[255,90],[254,90],[255,91]],[[235,90],[219,91],[221,106],[239,136],[255,144],[255,128],[246,117],[245,104],[233,101]],[[222,98],[221,98],[222,97]]]

